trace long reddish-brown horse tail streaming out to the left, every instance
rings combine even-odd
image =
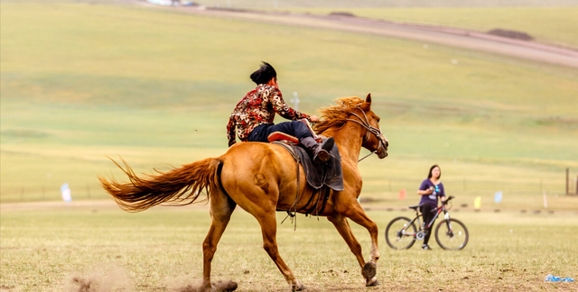
[[[112,161],[126,173],[130,182],[119,183],[114,178],[110,181],[107,178],[98,179],[118,206],[126,212],[140,212],[161,204],[190,205],[206,202],[210,198],[211,190],[220,186],[222,161],[217,158],[199,160],[167,172],[154,169],[158,174],[144,174],[144,178],[138,178],[125,160],[122,161],[126,169],[117,161]],[[197,201],[203,191],[207,196]]]

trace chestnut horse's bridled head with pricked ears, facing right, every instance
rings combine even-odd
[[[359,107],[361,115],[356,112],[352,113],[355,116],[354,121],[359,120],[359,123],[367,130],[361,146],[368,151],[376,152],[379,159],[383,160],[387,157],[389,141],[379,129],[379,116],[371,110],[371,94],[366,97],[364,105],[363,108]]]

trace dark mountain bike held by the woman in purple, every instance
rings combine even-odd
[[[469,233],[466,225],[462,224],[461,221],[457,219],[450,218],[450,213],[446,205],[451,201],[454,196],[449,196],[441,206],[433,209],[432,212],[435,213],[432,221],[427,224],[425,228],[424,224],[420,222],[419,214],[420,205],[410,205],[410,209],[415,210],[415,218],[410,220],[407,217],[400,216],[394,218],[386,228],[386,241],[389,246],[394,250],[406,250],[411,248],[416,240],[424,240],[425,234],[430,226],[432,226],[435,219],[443,212],[443,220],[437,224],[435,227],[435,241],[444,249],[451,251],[462,250],[466,244],[468,244]],[[415,228],[415,221],[417,221],[418,226],[421,226],[419,231]]]

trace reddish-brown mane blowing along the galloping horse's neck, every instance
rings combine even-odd
[[[339,128],[347,122],[350,114],[358,107],[364,112],[367,112],[371,106],[371,104],[357,96],[340,97],[337,98],[335,102],[337,105],[322,107],[320,110],[322,114],[321,121],[313,125],[315,132],[322,133],[332,127]]]

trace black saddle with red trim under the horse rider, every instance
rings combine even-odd
[[[330,151],[331,158],[322,164],[314,164],[309,153],[299,146],[299,140],[284,132],[272,132],[267,139],[275,144],[284,146],[291,153],[294,160],[300,162],[307,178],[307,184],[319,190],[326,186],[335,191],[343,190],[343,172],[341,170],[341,156],[337,145]]]

